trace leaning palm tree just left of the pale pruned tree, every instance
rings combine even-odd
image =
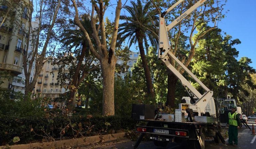
[[[71,22],[74,24],[74,22]],[[88,16],[83,16],[81,20],[82,25],[87,30],[88,34],[91,35],[92,29],[90,24],[90,19]],[[94,60],[94,57],[89,55],[89,48],[86,38],[83,36],[83,33],[81,30],[77,29],[67,29],[64,30],[64,33],[62,34],[61,42],[63,43],[63,48],[67,49],[68,51],[71,51],[71,49],[74,49],[72,51],[73,54],[76,55],[77,64],[74,66],[74,69],[70,73],[70,76],[72,76],[72,81],[70,82],[70,86],[72,86],[72,89],[70,90],[69,94],[69,102],[67,103],[67,108],[72,110],[75,108],[75,97],[76,97],[76,89],[79,86],[79,84],[82,82],[82,80],[88,75],[90,67],[90,63]],[[83,64],[85,58],[85,64]],[[86,66],[88,65],[88,66]],[[82,73],[82,74],[81,74]]]

